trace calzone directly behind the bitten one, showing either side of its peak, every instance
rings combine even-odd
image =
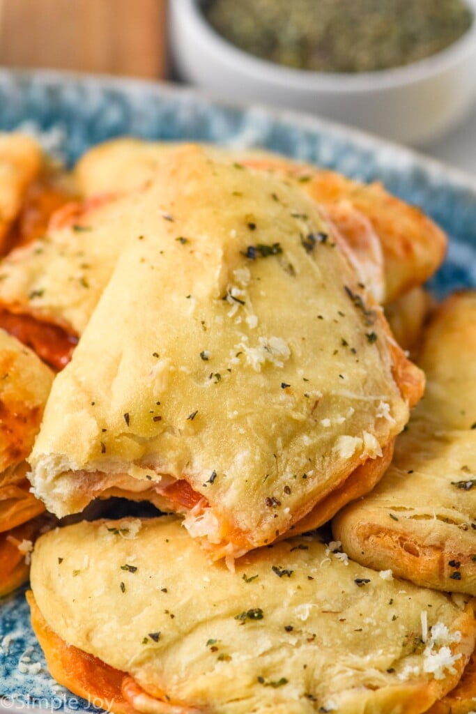
[[[176,144],[130,138],[108,141],[78,162],[76,181],[86,196],[142,188],[153,180],[171,146]],[[206,150],[213,159],[231,156],[240,164],[298,183],[328,211],[353,251],[370,266],[374,282],[382,281],[385,303],[424,283],[445,256],[445,233],[419,208],[390,195],[380,183],[366,185],[265,151],[223,151],[214,146]]]

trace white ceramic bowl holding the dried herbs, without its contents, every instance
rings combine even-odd
[[[476,16],[476,0],[465,0]],[[476,95],[476,20],[448,49],[397,69],[330,74],[254,57],[219,36],[199,0],[171,0],[173,61],[181,77],[223,99],[260,101],[422,144],[457,123]]]

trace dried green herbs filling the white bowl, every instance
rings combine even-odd
[[[245,52],[295,69],[352,74],[436,54],[473,21],[462,0],[207,0],[203,12]]]

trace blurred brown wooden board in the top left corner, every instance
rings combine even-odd
[[[166,0],[0,0],[0,65],[166,75]]]

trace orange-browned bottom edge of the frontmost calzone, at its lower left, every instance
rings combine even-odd
[[[44,651],[49,673],[74,694],[114,714],[136,714],[139,710],[154,710],[157,714],[196,712],[186,704],[165,700],[163,692],[156,692],[153,697],[148,695],[126,672],[66,644],[46,623],[31,590],[26,593],[26,599],[31,610],[31,626]],[[141,702],[140,709],[133,705],[137,700]]]

